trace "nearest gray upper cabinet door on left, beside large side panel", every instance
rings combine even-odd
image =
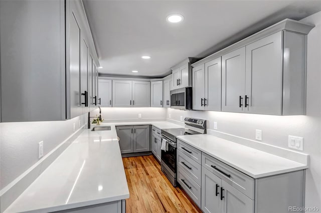
[[[82,114],[80,104],[80,28],[75,14],[70,17],[70,117]]]

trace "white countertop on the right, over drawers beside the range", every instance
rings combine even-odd
[[[178,138],[253,178],[308,168],[305,164],[209,134]]]

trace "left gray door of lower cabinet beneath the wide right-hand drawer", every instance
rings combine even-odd
[[[211,171],[202,168],[202,199],[201,206],[204,212],[217,213],[221,212],[222,201],[221,191],[222,180]]]

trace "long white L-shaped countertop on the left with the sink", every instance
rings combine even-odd
[[[160,129],[182,127],[168,121],[143,121],[102,123],[111,126],[107,131],[84,129],[5,213],[58,211],[128,198],[115,126],[149,124]]]

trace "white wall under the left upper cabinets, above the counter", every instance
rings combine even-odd
[[[44,155],[85,124],[88,114],[65,121],[0,123],[0,189],[34,165],[38,142],[44,141]]]

